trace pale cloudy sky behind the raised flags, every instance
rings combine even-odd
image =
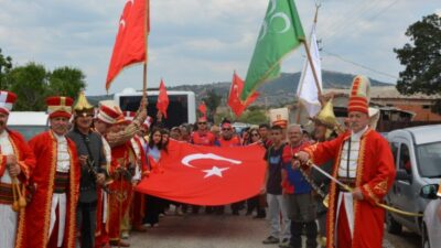
[[[0,48],[14,65],[73,66],[86,75],[87,95],[105,94],[107,68],[126,0],[0,0]],[[322,0],[318,39],[322,67],[395,83],[402,69],[392,52],[406,29],[441,14],[439,0]],[[149,87],[229,82],[245,77],[267,0],[150,0]],[[297,0],[305,33],[315,1]],[[282,64],[299,72],[304,51]],[[368,67],[366,69],[362,66]],[[125,69],[109,93],[142,87],[142,66]]]

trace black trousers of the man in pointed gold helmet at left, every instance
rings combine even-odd
[[[77,229],[80,233],[82,248],[95,248],[97,202],[78,203],[76,208]]]

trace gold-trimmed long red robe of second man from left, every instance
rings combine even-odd
[[[26,246],[46,248],[51,224],[51,205],[56,173],[57,141],[52,131],[40,133],[29,141],[34,151],[36,166],[31,183],[36,185],[35,193],[26,207]],[[69,186],[66,192],[66,226],[63,247],[75,248],[76,205],[79,194],[80,164],[75,143],[67,139],[71,155]],[[56,229],[53,230],[56,234]],[[52,234],[52,235],[54,235]]]

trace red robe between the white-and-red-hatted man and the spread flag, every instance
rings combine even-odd
[[[111,148],[110,175],[114,182],[109,185],[111,194],[109,195],[109,239],[111,241],[120,240],[121,220],[129,209],[132,185],[131,180],[127,181],[123,177],[115,177],[115,172],[118,168],[129,169],[130,163],[136,162],[135,152],[131,148],[130,140],[123,144]]]

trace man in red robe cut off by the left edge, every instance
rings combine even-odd
[[[9,111],[15,99],[15,94],[0,90],[0,244],[4,248],[21,246],[24,241],[24,223],[20,222],[24,218],[24,204],[18,205],[20,198],[15,190],[20,188],[24,194],[21,185],[28,183],[35,166],[26,141],[19,132],[7,128]]]

